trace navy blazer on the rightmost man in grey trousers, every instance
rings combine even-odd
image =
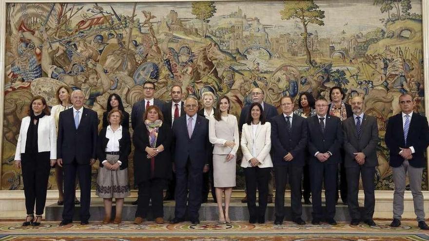
[[[402,165],[404,158],[399,155],[400,148],[413,147],[415,153],[409,160],[412,167],[425,167],[426,159],[424,153],[429,145],[429,127],[426,117],[413,112],[407,136],[407,145],[404,140],[404,128],[402,122],[402,112],[391,116],[386,127],[386,145],[390,151],[390,166],[399,167]]]

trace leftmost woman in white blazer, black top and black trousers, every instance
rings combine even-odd
[[[40,225],[46,203],[49,172],[57,161],[57,130],[50,114],[45,98],[35,96],[30,102],[29,116],[24,117],[21,122],[15,166],[22,169],[24,183],[27,218],[22,226]]]

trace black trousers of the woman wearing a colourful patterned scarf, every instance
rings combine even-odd
[[[146,218],[149,213],[149,201],[152,201],[152,214],[154,218],[164,217],[163,192],[165,179],[154,178],[138,185],[138,202],[136,217]]]

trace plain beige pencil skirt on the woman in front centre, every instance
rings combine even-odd
[[[235,186],[235,160],[226,161],[228,155],[213,154],[213,179],[215,187]]]

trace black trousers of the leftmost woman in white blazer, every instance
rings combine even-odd
[[[46,191],[51,170],[49,161],[51,152],[44,151],[36,154],[21,154],[22,180],[24,183],[25,208],[27,215],[42,215],[46,204]]]

